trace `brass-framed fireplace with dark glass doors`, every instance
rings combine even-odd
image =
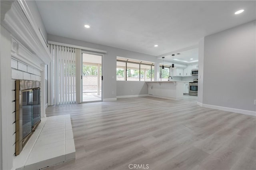
[[[15,81],[15,155],[19,155],[38,123],[40,112],[40,81]]]

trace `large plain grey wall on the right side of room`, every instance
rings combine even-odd
[[[254,20],[205,37],[204,104],[256,110],[255,25]]]

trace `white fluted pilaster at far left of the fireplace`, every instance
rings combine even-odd
[[[0,39],[0,169],[10,170],[14,154],[12,149],[11,37],[10,32],[2,25]]]

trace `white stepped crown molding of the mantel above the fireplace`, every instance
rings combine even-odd
[[[1,1],[8,11],[1,10],[1,24],[22,44],[27,51],[34,54],[40,64],[52,61],[50,51],[44,42],[42,35],[34,22],[31,12],[25,1]],[[2,8],[1,8],[2,9]]]

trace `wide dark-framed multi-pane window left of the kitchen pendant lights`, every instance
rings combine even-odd
[[[117,57],[116,80],[154,81],[154,65],[146,61]]]

